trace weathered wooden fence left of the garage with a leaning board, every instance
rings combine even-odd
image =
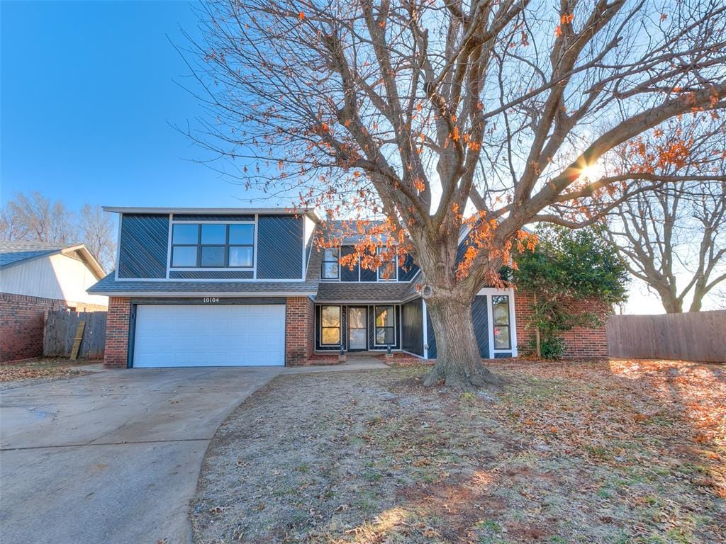
[[[83,323],[83,326],[81,326]],[[76,344],[76,338],[81,342]],[[71,312],[57,310],[48,313],[43,335],[43,355],[102,359],[106,342],[106,312]]]

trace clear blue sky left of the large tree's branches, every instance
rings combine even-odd
[[[197,34],[184,1],[2,1],[1,200],[244,206],[242,187],[170,124],[204,115],[170,43]],[[246,196],[249,198],[249,195]]]

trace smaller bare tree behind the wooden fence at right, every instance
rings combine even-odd
[[[676,154],[680,169],[704,179],[635,195],[613,210],[606,231],[668,313],[682,312],[688,296],[689,311],[701,310],[703,297],[726,280],[726,182],[709,179],[726,175],[725,147],[723,120],[689,115],[619,149],[620,169],[671,176],[679,165],[661,155]]]

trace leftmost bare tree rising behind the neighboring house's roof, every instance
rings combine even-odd
[[[66,244],[76,241],[73,213],[60,201],[51,202],[39,192],[15,194],[2,213],[3,238]]]

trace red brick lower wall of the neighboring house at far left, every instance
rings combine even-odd
[[[85,302],[0,293],[0,363],[42,357],[46,313],[69,307],[79,312],[106,310]]]

